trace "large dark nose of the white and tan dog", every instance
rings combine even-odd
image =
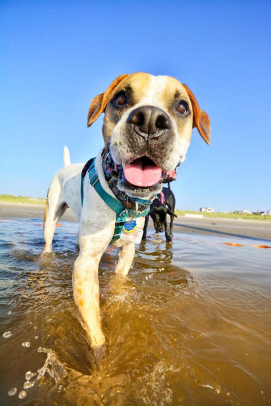
[[[133,110],[127,118],[127,123],[137,126],[140,132],[153,136],[159,136],[161,130],[171,129],[170,117],[154,106],[142,106]]]

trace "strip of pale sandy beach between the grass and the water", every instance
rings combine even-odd
[[[43,221],[44,206],[27,204],[6,204],[0,202],[0,218],[38,218]],[[68,209],[62,221],[77,221],[72,211]],[[149,222],[149,230],[153,230],[152,222]],[[243,219],[219,219],[219,218],[189,218],[178,216],[174,220],[174,231],[195,234],[215,234],[247,239],[260,239],[271,241],[271,222],[243,220]]]

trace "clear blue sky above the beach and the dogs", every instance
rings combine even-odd
[[[271,210],[270,1],[1,4],[1,189],[44,197],[63,165],[103,145],[93,96],[138,71],[187,84],[211,120],[193,129],[172,184],[177,208]]]

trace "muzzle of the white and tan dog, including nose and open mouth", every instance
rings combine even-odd
[[[138,107],[126,119],[125,134],[129,159],[123,164],[124,177],[119,188],[138,197],[158,193],[174,138],[170,116],[158,107]]]

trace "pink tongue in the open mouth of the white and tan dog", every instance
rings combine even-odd
[[[136,159],[124,166],[126,181],[135,186],[148,187],[159,182],[162,170],[154,164],[142,164],[141,159]]]

